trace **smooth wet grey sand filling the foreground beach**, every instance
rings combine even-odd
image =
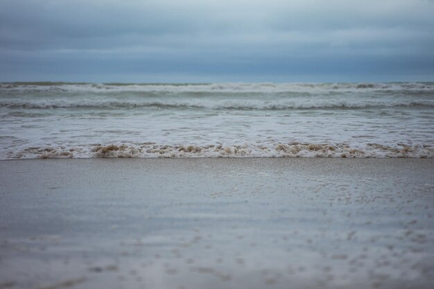
[[[0,161],[0,288],[432,288],[433,159]]]

